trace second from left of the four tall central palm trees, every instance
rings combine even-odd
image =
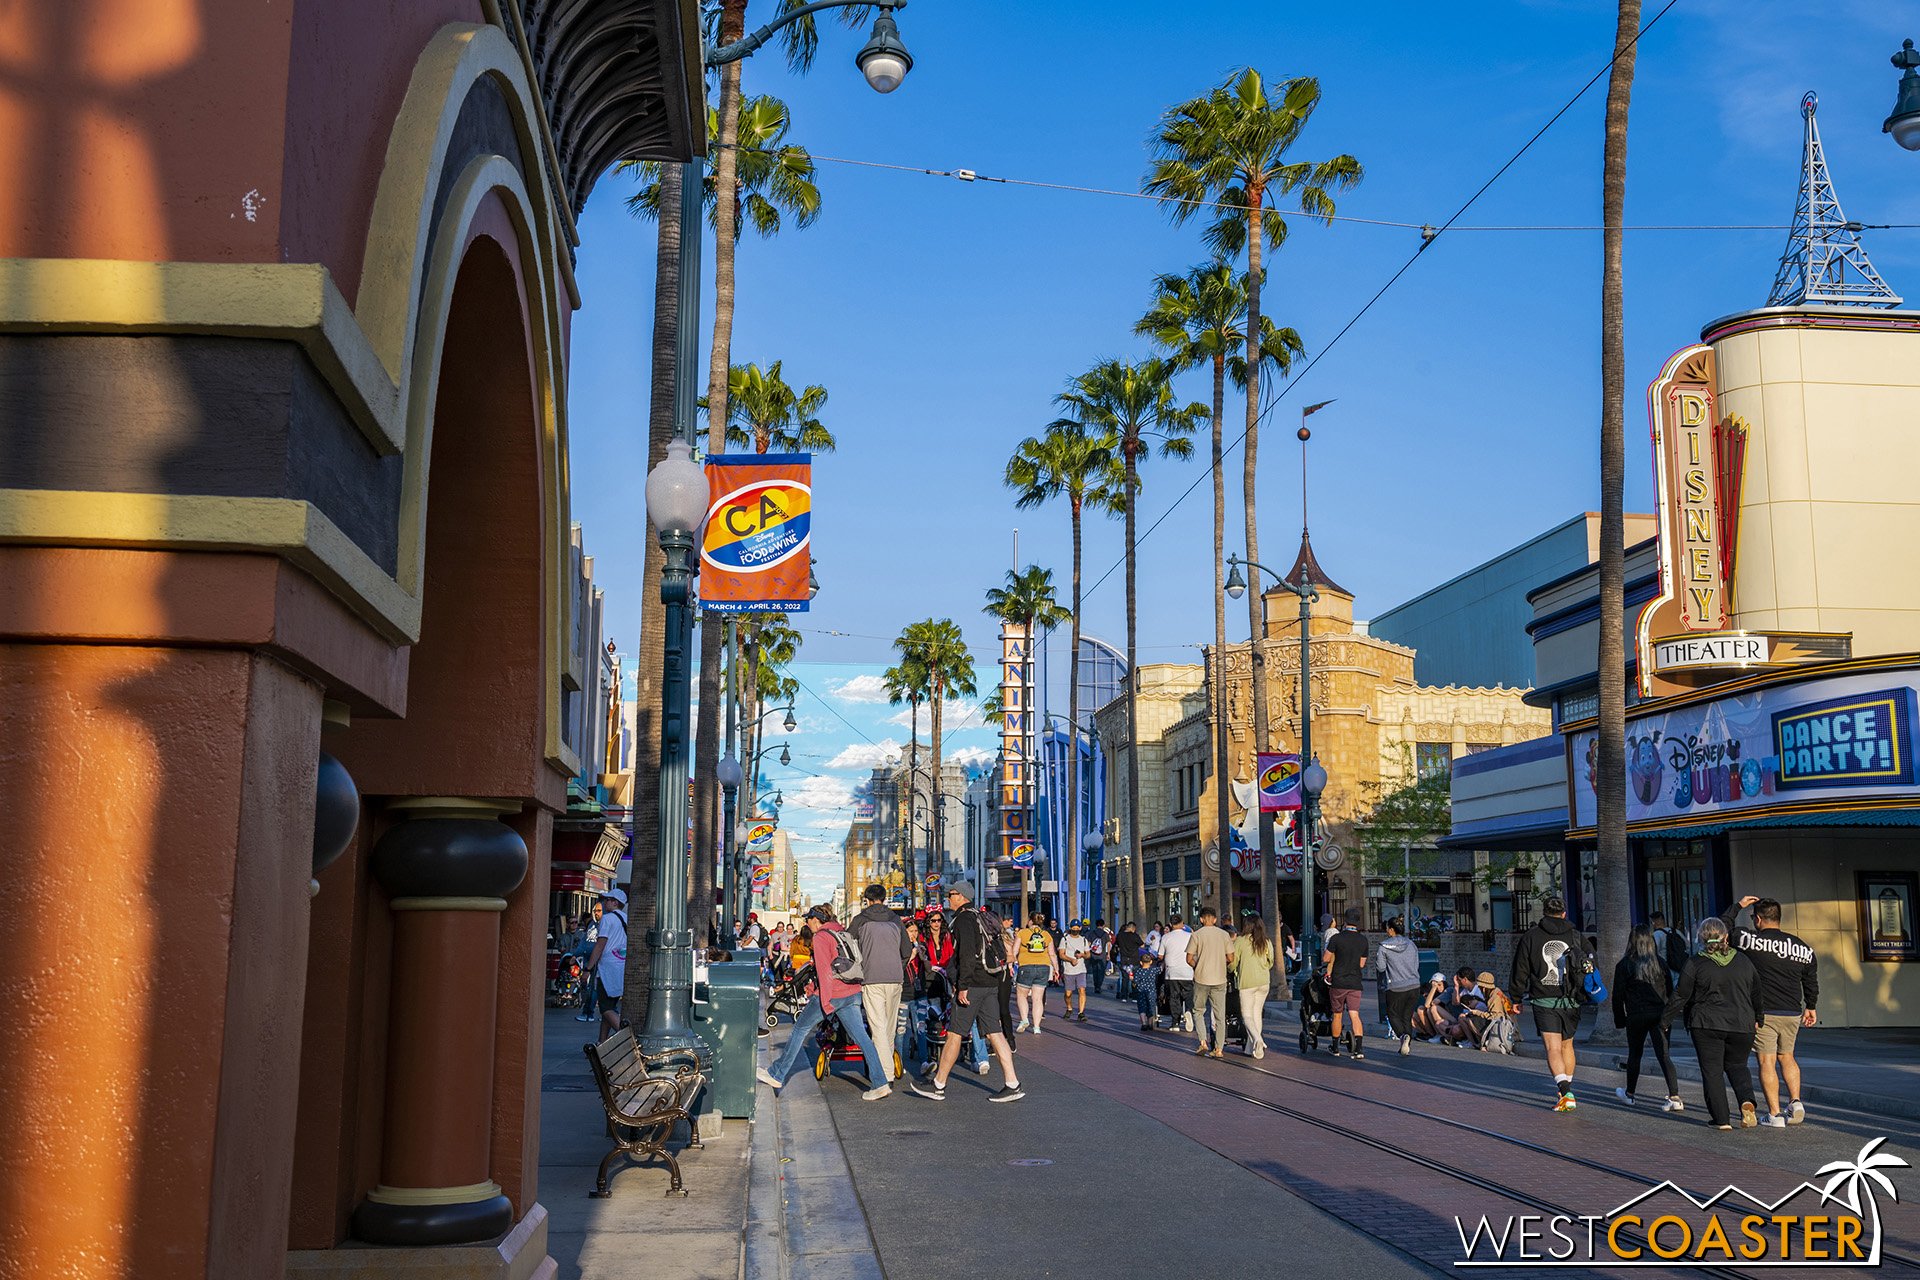
[[[1200,426],[1204,405],[1183,405],[1173,395],[1175,367],[1162,359],[1146,359],[1139,365],[1127,361],[1100,361],[1068,384],[1068,390],[1054,397],[1054,403],[1068,415],[1092,430],[1112,432],[1119,441],[1121,487],[1119,509],[1125,520],[1125,570],[1127,570],[1127,743],[1133,758],[1127,768],[1127,856],[1129,865],[1140,865],[1140,756],[1133,747],[1140,741],[1140,702],[1139,681],[1139,599],[1135,591],[1135,509],[1140,491],[1140,457],[1150,451],[1148,439],[1160,441],[1160,457],[1188,459],[1194,445],[1188,439]],[[1073,731],[1073,756],[1079,764],[1079,723]],[[1081,839],[1079,808],[1075,804],[1073,842]],[[1142,877],[1133,879],[1133,913],[1146,913],[1146,885]]]

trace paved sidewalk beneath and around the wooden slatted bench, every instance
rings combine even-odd
[[[753,1176],[753,1132],[728,1121],[703,1150],[682,1151],[685,1196],[668,1196],[664,1165],[620,1161],[612,1194],[591,1199],[607,1138],[580,1046],[595,1027],[549,1009],[540,1077],[540,1203],[557,1280],[739,1280]],[[684,1134],[682,1134],[684,1138]]]

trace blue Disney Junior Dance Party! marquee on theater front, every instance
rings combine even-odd
[[[1626,821],[1914,793],[1916,674],[1803,679],[1626,720]],[[1596,733],[1569,735],[1572,827],[1596,821]]]

